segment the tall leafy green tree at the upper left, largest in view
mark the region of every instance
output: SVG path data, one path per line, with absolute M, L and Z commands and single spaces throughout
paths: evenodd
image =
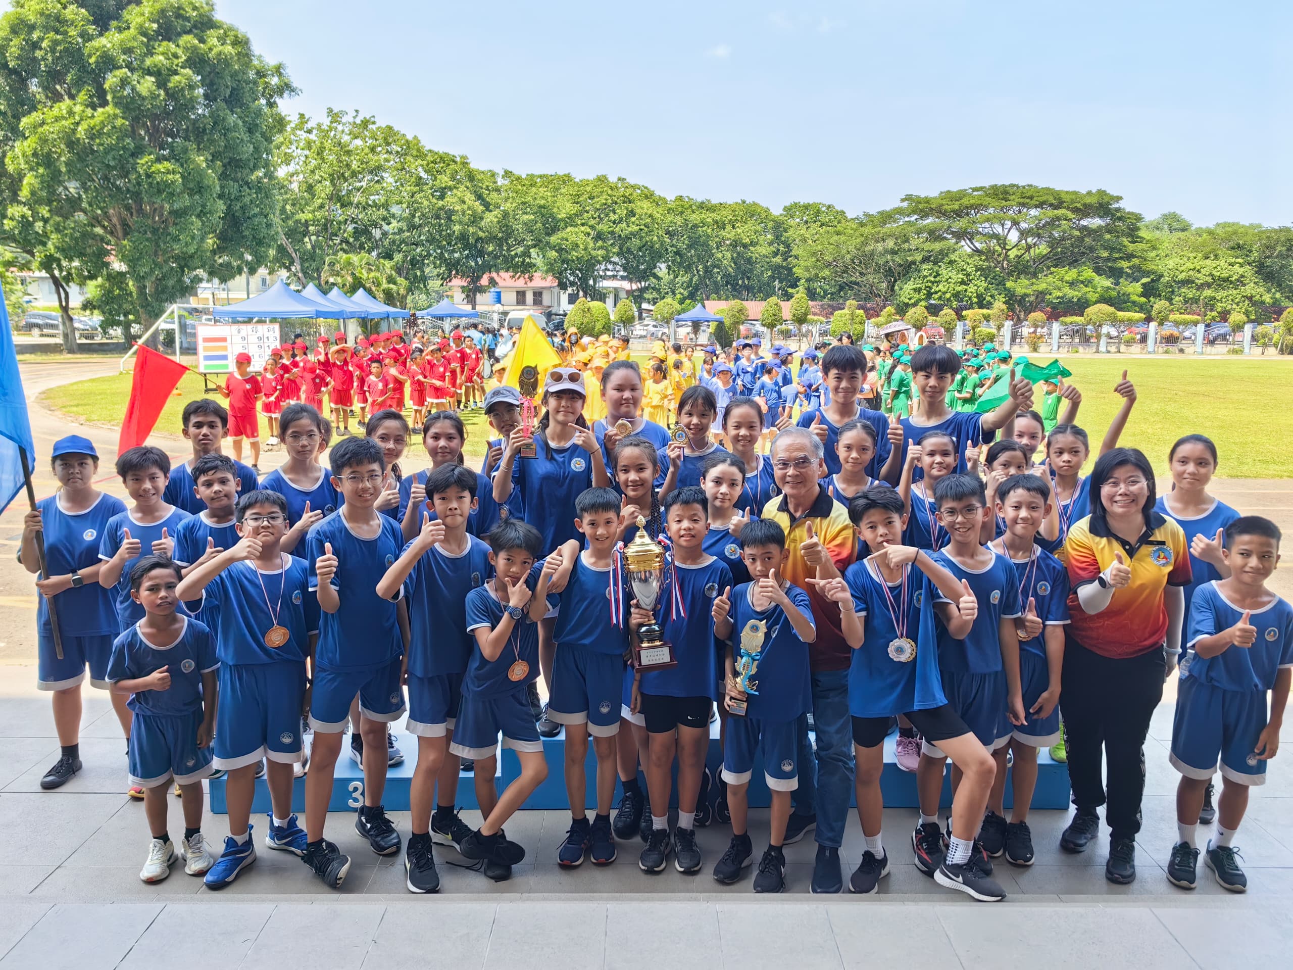
M 149 325 L 199 275 L 269 259 L 292 88 L 209 0 L 92 6 L 0 18 L 5 242 L 65 283 L 120 273 Z

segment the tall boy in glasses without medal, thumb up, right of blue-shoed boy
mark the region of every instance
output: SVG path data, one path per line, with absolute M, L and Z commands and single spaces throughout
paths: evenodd
M 345 503 L 305 537 L 309 587 L 318 595 L 319 638 L 310 696 L 314 728 L 310 772 L 305 776 L 305 864 L 337 889 L 350 867 L 348 856 L 323 839 L 332 797 L 332 773 L 350 702 L 359 697 L 359 735 L 370 751 L 387 745 L 387 724 L 405 713 L 403 679 L 407 613 L 402 591 L 384 599 L 376 581 L 403 548 L 400 523 L 372 506 L 381 494 L 385 460 L 372 438 L 344 438 L 331 451 L 332 485 Z M 381 807 L 387 759 L 365 758 L 363 804 L 356 830 L 378 855 L 400 851 L 400 834 Z

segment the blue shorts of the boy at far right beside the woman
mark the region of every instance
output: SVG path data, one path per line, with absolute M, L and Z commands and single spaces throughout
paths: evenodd
M 1199 678 L 1177 684 L 1171 719 L 1171 766 L 1187 779 L 1204 781 L 1217 772 L 1240 785 L 1266 784 L 1266 762 L 1256 754 L 1266 727 L 1266 691 L 1226 691 Z

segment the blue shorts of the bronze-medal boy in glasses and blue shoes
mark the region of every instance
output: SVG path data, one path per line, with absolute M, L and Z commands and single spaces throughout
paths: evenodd
M 221 663 L 215 766 L 233 771 L 261 758 L 301 759 L 304 661 Z

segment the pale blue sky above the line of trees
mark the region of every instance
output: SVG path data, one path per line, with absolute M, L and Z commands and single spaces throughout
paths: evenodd
M 5 4 L 6 5 L 6 4 Z M 473 164 L 828 202 L 992 182 L 1293 222 L 1287 0 L 216 0 L 290 113 Z

